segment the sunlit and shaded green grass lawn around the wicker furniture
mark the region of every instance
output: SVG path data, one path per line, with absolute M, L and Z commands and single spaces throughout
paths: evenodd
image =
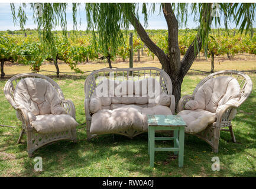
M 202 65 L 200 70 L 209 71 L 208 67 Z M 95 70 L 99 67 L 106 65 L 89 64 L 86 69 Z M 117 64 L 116 67 L 121 67 L 121 64 Z M 11 74 L 8 69 L 13 73 L 24 73 L 28 67 L 5 67 L 6 74 Z M 255 62 L 254 65 L 252 64 L 251 70 L 253 69 L 255 70 Z M 182 95 L 192 93 L 203 77 L 205 76 L 188 74 L 182 84 Z M 147 133 L 138 135 L 132 140 L 121 135 L 101 135 L 88 142 L 85 125 L 80 125 L 77 127 L 76 144 L 60 141 L 35 151 L 34 157 L 43 158 L 43 171 L 34 171 L 34 158 L 27 157 L 26 136 L 24 135 L 21 144 L 16 144 L 21 122 L 16 118 L 14 109 L 5 99 L 2 91 L 0 124 L 17 126 L 17 128 L 0 127 L 0 177 L 255 177 L 256 74 L 249 74 L 249 77 L 254 83 L 252 94 L 239 107 L 232 121 L 237 143 L 231 142 L 229 132 L 222 132 L 219 152 L 215 154 L 206 142 L 186 134 L 183 168 L 178 167 L 178 159 L 173 152 L 155 152 L 155 167 L 150 168 Z M 83 83 L 86 76 L 53 79 L 60 85 L 65 98 L 73 100 L 77 122 L 84 123 Z M 0 80 L 1 90 L 6 82 L 7 79 Z M 157 142 L 157 145 L 163 147 L 168 144 L 169 142 Z M 211 169 L 213 163 L 211 159 L 215 156 L 221 161 L 220 171 Z

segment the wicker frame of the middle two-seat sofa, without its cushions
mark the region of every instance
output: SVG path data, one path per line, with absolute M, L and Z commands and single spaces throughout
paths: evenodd
M 158 69 L 156 67 L 96 70 L 96 71 L 93 71 L 85 80 L 85 116 L 86 116 L 86 133 L 87 133 L 88 139 L 98 136 L 98 134 L 90 133 L 90 126 L 92 121 L 92 113 L 90 113 L 90 110 L 89 110 L 90 97 L 92 96 L 98 84 L 96 82 L 96 78 L 98 78 L 99 76 L 109 77 L 109 72 L 114 73 L 115 78 L 117 76 L 122 77 L 122 80 L 139 80 L 139 77 L 157 78 L 157 80 L 159 80 L 160 82 L 160 86 L 163 89 L 163 92 L 170 95 L 171 97 L 170 110 L 174 114 L 175 98 L 174 98 L 174 95 L 172 95 L 173 91 L 172 91 L 171 79 L 164 70 Z M 129 131 L 119 131 L 115 133 L 119 135 L 128 136 L 129 138 L 133 138 L 134 136 L 139 135 L 142 132 L 136 131 L 135 129 L 131 129 Z

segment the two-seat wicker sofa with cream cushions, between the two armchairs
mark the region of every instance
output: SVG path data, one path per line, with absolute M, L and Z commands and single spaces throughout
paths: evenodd
M 96 70 L 85 80 L 88 139 L 106 133 L 133 138 L 147 132 L 147 114 L 171 115 L 174 109 L 170 77 L 155 67 Z

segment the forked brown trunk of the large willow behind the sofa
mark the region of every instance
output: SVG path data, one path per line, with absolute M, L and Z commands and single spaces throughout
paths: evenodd
M 138 21 L 135 15 L 132 15 L 130 22 L 140 36 L 141 41 L 147 45 L 149 50 L 153 52 L 155 56 L 157 56 L 162 65 L 162 69 L 166 71 L 166 73 L 170 76 L 171 83 L 173 85 L 173 95 L 175 96 L 177 108 L 181 97 L 181 89 L 184 76 L 186 75 L 187 71 L 189 71 L 193 61 L 198 54 L 197 48 L 196 52 L 194 51 L 195 40 L 198 42 L 199 51 L 202 47 L 202 43 L 196 35 L 195 40 L 190 45 L 183 57 L 183 60 L 181 61 L 178 41 L 179 24 L 171 8 L 171 4 L 163 5 L 163 13 L 168 26 L 168 54 L 164 53 L 164 51 L 150 39 L 147 32 L 145 32 L 140 21 Z

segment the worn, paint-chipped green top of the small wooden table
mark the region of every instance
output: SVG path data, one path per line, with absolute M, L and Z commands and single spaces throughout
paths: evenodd
M 187 126 L 179 115 L 147 115 L 149 126 Z

